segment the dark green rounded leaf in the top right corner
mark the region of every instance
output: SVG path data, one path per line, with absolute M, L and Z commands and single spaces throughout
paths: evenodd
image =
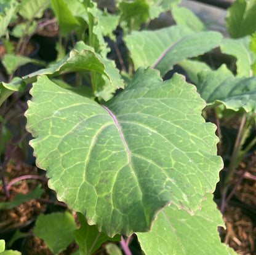
M 228 9 L 226 27 L 230 36 L 239 38 L 256 31 L 256 0 L 236 0 Z

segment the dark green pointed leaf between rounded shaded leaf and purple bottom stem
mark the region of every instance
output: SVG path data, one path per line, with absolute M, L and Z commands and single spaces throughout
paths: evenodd
M 79 251 L 81 254 L 92 254 L 94 251 L 97 251 L 97 249 L 100 248 L 100 245 L 102 245 L 102 243 L 107 240 L 121 240 L 120 235 L 116 235 L 113 238 L 110 238 L 105 235 L 105 233 L 98 232 L 97 226 L 90 226 L 81 213 L 77 214 L 81 227 L 78 230 L 74 230 L 74 237 L 79 245 Z

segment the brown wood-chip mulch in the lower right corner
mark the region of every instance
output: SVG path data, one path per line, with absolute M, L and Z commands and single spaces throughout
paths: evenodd
M 226 230 L 222 229 L 222 241 L 241 255 L 256 254 L 256 152 L 244 160 L 233 178 L 236 184 L 244 175 L 235 192 L 240 202 L 230 202 L 225 208 L 223 220 Z M 255 178 L 255 179 L 253 179 Z

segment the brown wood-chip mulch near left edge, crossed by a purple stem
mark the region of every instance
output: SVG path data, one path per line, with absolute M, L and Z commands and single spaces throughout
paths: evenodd
M 7 167 L 6 170 L 6 183 L 10 180 L 23 175 L 38 175 L 36 168 L 23 166 L 21 170 L 17 170 L 13 165 Z M 46 183 L 35 179 L 26 179 L 20 182 L 16 182 L 9 189 L 10 198 L 12 201 L 14 197 L 20 194 L 28 194 L 31 192 L 38 184 L 43 184 L 43 188 L 47 190 Z M 43 195 L 47 198 L 47 194 Z M 0 186 L 0 202 L 7 201 L 4 189 Z M 25 222 L 38 216 L 39 213 L 46 210 L 46 205 L 39 203 L 37 200 L 33 199 L 28 202 L 22 203 L 20 206 L 13 208 L 12 210 L 0 210 L 0 229 L 7 230 L 14 227 L 22 226 Z

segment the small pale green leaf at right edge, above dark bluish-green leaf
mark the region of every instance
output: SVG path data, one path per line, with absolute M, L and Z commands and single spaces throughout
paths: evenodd
M 233 55 L 237 58 L 237 76 L 250 77 L 252 70 L 250 66 L 255 61 L 255 54 L 250 50 L 250 37 L 242 37 L 240 39 L 225 38 L 220 44 L 223 53 Z

